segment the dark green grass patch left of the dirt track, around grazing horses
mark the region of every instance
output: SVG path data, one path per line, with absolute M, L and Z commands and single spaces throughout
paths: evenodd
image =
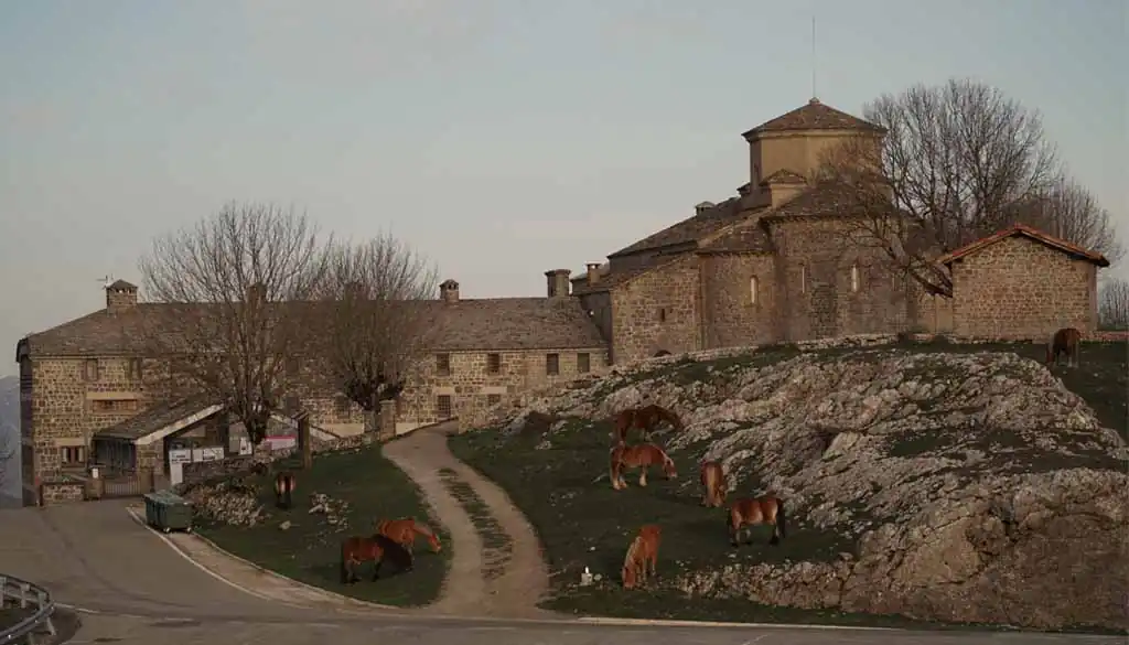
M 288 465 L 291 468 L 292 465 Z M 350 535 L 370 535 L 380 518 L 414 516 L 428 521 L 427 507 L 415 483 L 380 454 L 378 445 L 314 456 L 313 469 L 296 470 L 294 508 L 274 508 L 273 474 L 247 477 L 259 489 L 259 500 L 272 517 L 252 526 L 231 526 L 198 520 L 196 531 L 220 548 L 290 578 L 359 600 L 414 607 L 435 601 L 446 577 L 450 549 L 432 554 L 422 540 L 414 549 L 415 566 L 408 573 L 370 582 L 371 564 L 362 566 L 362 582 L 344 585 L 340 577 L 340 543 Z M 349 503 L 347 529 L 329 525 L 324 515 L 310 514 L 310 495 L 322 493 Z M 280 529 L 290 521 L 287 530 Z M 430 524 L 447 547 L 443 526 Z

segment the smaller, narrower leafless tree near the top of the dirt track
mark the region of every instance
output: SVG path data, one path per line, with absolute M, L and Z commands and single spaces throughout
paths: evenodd
M 367 412 L 366 429 L 435 340 L 436 282 L 435 267 L 391 233 L 330 254 L 322 355 L 334 385 Z

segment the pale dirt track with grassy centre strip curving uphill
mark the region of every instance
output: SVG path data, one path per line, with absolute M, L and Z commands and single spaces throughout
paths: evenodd
M 549 589 L 549 574 L 536 533 L 500 488 L 450 454 L 450 429 L 437 426 L 419 430 L 384 446 L 385 456 L 422 489 L 454 542 L 443 593 L 425 611 L 499 618 L 552 616 L 537 608 Z M 456 498 L 456 493 L 467 488 L 473 496 Z M 474 517 L 467 512 L 472 497 L 479 502 L 479 507 L 472 508 Z M 500 543 L 506 544 L 505 557 L 498 557 Z

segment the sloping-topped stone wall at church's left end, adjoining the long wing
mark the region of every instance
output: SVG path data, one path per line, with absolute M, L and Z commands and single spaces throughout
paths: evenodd
M 612 356 L 616 364 L 659 350 L 677 354 L 700 349 L 698 261 L 697 255 L 686 254 L 612 290 Z

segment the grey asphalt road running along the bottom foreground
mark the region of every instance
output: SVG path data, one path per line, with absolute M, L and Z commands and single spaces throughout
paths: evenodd
M 167 645 L 892 645 L 1124 643 L 1123 637 L 873 631 L 787 627 L 596 625 L 402 616 L 282 607 L 248 595 L 170 552 L 115 502 L 0 511 L 0 572 L 41 584 L 78 608 L 71 643 Z M 457 638 L 457 640 L 453 640 Z

